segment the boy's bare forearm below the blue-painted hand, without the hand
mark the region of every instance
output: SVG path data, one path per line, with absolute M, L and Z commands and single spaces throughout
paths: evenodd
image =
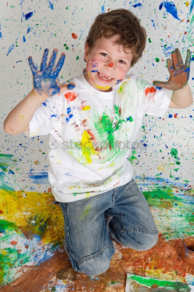
M 34 112 L 44 100 L 31 91 L 8 114 L 4 121 L 4 131 L 13 135 L 24 132 Z

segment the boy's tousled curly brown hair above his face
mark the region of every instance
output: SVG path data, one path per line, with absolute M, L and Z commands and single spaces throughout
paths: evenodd
M 115 44 L 122 45 L 125 53 L 126 49 L 131 50 L 132 67 L 142 57 L 147 35 L 140 20 L 127 9 L 119 8 L 96 16 L 86 39 L 89 51 L 101 36 L 109 39 L 115 35 L 120 36 Z

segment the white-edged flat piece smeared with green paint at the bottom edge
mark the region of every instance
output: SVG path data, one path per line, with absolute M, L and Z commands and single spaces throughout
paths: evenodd
M 144 287 L 144 289 L 140 287 Z M 153 288 L 157 288 L 157 287 L 160 287 L 160 288 L 166 287 L 166 289 L 169 289 L 169 290 L 172 289 L 172 291 L 174 289 L 175 291 L 180 291 L 180 292 L 194 292 L 193 285 L 188 285 L 188 284 L 176 282 L 176 281 L 159 280 L 159 279 L 141 277 L 134 274 L 127 274 L 127 284 L 126 284 L 125 292 L 143 292 L 146 290 L 145 287 L 147 288 L 147 290 L 150 290 L 150 292 L 152 292 Z M 165 292 L 165 288 L 163 289 L 162 290 Z

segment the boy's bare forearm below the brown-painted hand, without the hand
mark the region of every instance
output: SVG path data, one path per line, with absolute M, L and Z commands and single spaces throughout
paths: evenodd
M 173 91 L 170 108 L 186 108 L 193 102 L 193 96 L 188 84 L 183 88 Z

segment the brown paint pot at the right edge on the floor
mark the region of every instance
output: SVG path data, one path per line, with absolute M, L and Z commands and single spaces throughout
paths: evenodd
M 194 237 L 189 236 L 184 239 L 181 258 L 188 264 L 194 264 Z

